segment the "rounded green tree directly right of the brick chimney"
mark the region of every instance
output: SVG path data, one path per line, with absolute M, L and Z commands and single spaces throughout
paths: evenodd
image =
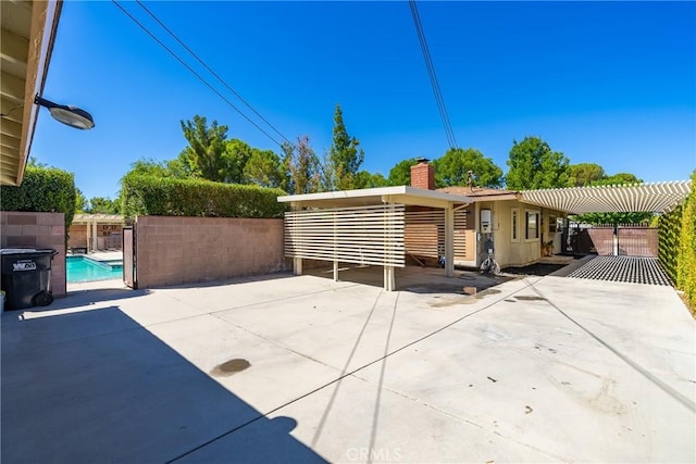
M 433 161 L 433 165 L 438 187 L 467 185 L 469 171 L 474 172 L 476 184 L 481 187 L 502 186 L 502 170 L 490 158 L 485 158 L 473 148 L 449 149 L 442 158 Z

